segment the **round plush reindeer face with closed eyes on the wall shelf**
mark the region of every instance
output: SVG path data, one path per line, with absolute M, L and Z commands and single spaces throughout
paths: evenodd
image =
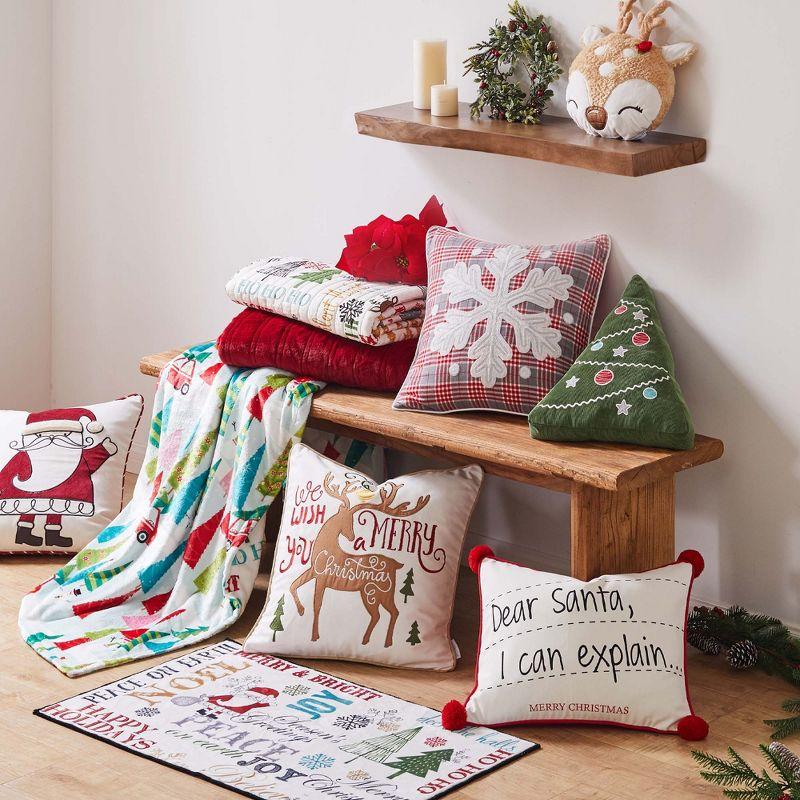
M 693 44 L 654 45 L 649 35 L 664 24 L 662 0 L 639 14 L 639 37 L 627 33 L 634 0 L 621 0 L 617 31 L 591 26 L 569 71 L 567 110 L 578 127 L 607 139 L 638 139 L 657 128 L 675 95 L 675 67 L 696 52 Z

